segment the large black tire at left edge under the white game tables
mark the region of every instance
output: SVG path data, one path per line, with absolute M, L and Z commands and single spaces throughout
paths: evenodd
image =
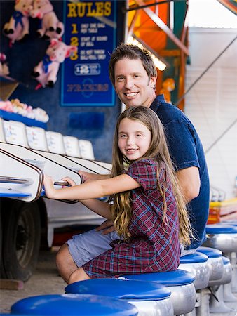
M 1 277 L 27 281 L 39 256 L 41 218 L 36 202 L 5 199 L 2 213 Z

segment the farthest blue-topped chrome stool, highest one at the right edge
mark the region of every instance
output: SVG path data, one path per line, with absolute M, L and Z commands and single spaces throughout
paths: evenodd
M 232 265 L 231 289 L 237 292 L 237 227 L 234 225 L 213 224 L 206 226 L 207 240 L 203 246 L 209 246 L 221 250 L 227 256 Z

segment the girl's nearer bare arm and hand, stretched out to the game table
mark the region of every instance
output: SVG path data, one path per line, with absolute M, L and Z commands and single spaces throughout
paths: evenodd
M 97 197 L 105 197 L 114 193 L 124 192 L 140 187 L 132 177 L 122 174 L 114 178 L 106 180 L 90 181 L 73 187 L 65 187 L 55 190 L 53 187 L 53 179 L 44 176 L 43 185 L 46 196 L 50 199 L 95 199 Z

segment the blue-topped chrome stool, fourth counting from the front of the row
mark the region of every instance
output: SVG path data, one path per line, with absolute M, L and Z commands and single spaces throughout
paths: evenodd
M 208 267 L 210 270 L 209 283 L 222 278 L 224 264 L 222 261 L 222 251 L 210 247 L 198 247 L 198 252 L 208 256 Z

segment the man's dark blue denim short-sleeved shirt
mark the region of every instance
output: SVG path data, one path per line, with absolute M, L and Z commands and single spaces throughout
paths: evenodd
M 150 108 L 156 112 L 165 127 L 170 156 L 176 171 L 191 166 L 196 166 L 199 170 L 200 192 L 187 206 L 195 239 L 191 240 L 191 245 L 186 249 L 195 249 L 205 241 L 205 225 L 209 213 L 210 187 L 203 145 L 191 121 L 177 107 L 165 103 L 163 95 L 157 96 Z

